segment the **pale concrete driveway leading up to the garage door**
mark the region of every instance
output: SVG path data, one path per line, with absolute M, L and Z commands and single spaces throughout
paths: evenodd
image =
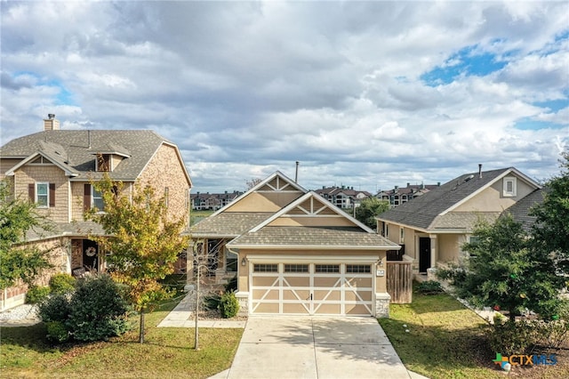
M 217 378 L 410 378 L 373 318 L 249 317 Z

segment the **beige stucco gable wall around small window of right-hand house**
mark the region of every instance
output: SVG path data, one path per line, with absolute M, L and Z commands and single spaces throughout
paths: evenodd
M 503 185 L 503 179 L 496 181 L 491 187 L 483 190 L 476 197 L 470 198 L 461 206 L 454 208 L 453 212 L 501 212 L 535 190 L 535 187 L 528 185 L 517 177 L 517 196 L 505 197 L 503 196 Z

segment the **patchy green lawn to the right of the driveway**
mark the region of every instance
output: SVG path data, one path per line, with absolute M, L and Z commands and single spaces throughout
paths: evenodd
M 413 293 L 413 303 L 392 304 L 390 319 L 380 319 L 407 369 L 429 378 L 569 377 L 569 351 L 557 351 L 556 366 L 513 367 L 493 364 L 496 352 L 486 340 L 484 319 L 447 294 Z M 409 332 L 406 332 L 408 330 Z M 565 346 L 569 348 L 569 346 Z

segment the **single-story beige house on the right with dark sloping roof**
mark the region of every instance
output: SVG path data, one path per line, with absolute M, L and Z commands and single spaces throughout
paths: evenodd
M 377 216 L 378 230 L 402 246 L 398 259 L 413 262 L 415 273 L 466 257 L 479 220 L 493 222 L 528 196 L 539 197 L 541 186 L 514 167 L 465 173 Z M 514 208 L 516 209 L 516 208 Z M 395 255 L 394 255 L 395 256 Z

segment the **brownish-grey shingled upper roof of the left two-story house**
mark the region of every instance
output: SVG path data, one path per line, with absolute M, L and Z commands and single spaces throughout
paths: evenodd
M 2 158 L 26 159 L 42 155 L 68 171 L 76 181 L 96 180 L 95 155 L 125 157 L 109 173 L 111 179 L 134 181 L 163 143 L 172 144 L 150 130 L 52 130 L 29 134 L 0 148 Z

